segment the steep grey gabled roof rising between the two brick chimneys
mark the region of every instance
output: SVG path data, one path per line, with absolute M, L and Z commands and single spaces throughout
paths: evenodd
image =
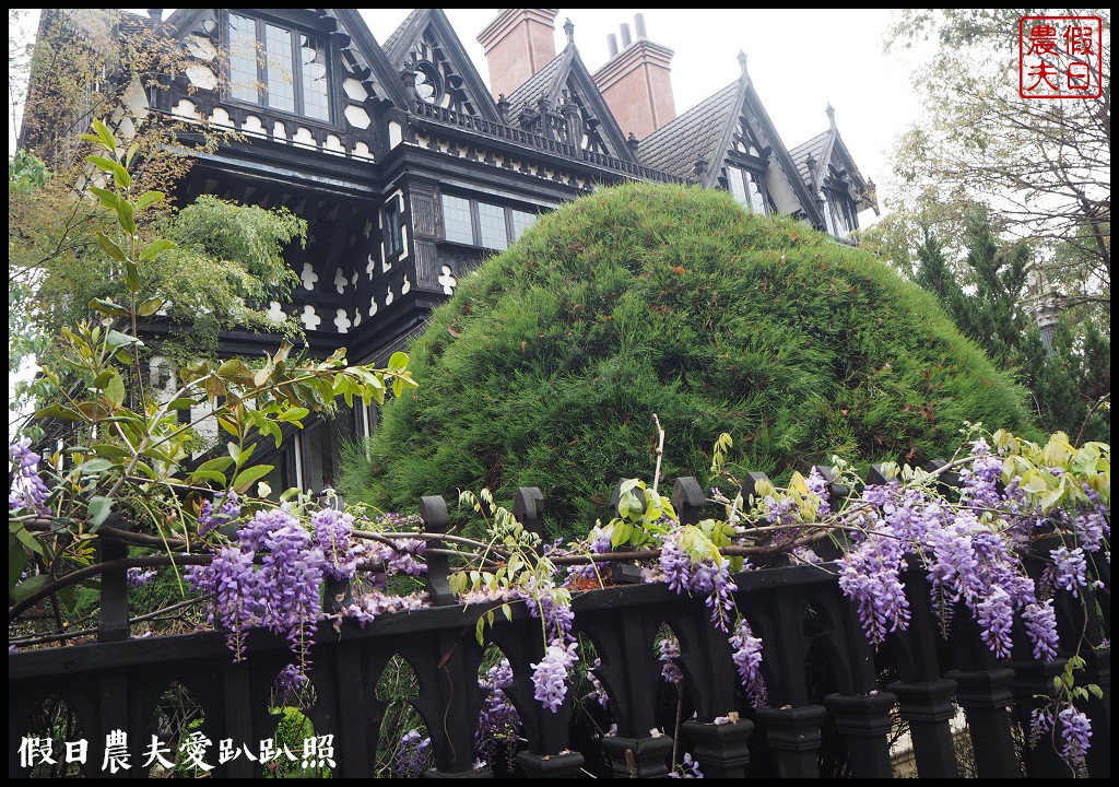
M 556 106 L 564 91 L 572 88 L 579 94 L 586 112 L 599 121 L 599 133 L 603 142 L 615 158 L 638 163 L 637 158 L 626 142 L 626 134 L 614 120 L 610 106 L 599 92 L 594 77 L 583 63 L 579 48 L 572 37 L 572 27 L 567 25 L 567 46 L 558 55 L 544 64 L 525 84 L 506 96 L 509 109 L 506 112 L 509 125 L 520 128 L 520 114 L 524 111 L 535 112 L 540 97 L 549 107 Z

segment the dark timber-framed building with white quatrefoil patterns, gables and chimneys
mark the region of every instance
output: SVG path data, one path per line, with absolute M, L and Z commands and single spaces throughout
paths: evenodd
M 673 50 L 648 38 L 641 15 L 591 73 L 571 21 L 556 29 L 558 10 L 499 11 L 478 35 L 488 85 L 440 9 L 414 10 L 383 43 L 356 9 L 122 13 L 121 30 L 160 28 L 189 62 L 163 90 L 126 91 L 117 130 L 156 115 L 238 131 L 198 157 L 180 204 L 213 194 L 307 219 L 307 249 L 289 254 L 301 283 L 271 311 L 299 319 L 312 354 L 345 346 L 351 363 L 383 363 L 486 255 L 602 186 L 721 188 L 840 242 L 876 209 L 830 106 L 822 133 L 787 148 L 740 54 L 739 78 L 677 115 Z M 274 344 L 242 331 L 223 346 L 258 355 Z M 358 404 L 300 432 L 272 487 L 329 486 L 332 447 L 374 419 Z

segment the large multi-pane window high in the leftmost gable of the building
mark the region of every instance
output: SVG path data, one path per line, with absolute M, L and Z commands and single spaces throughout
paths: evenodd
M 237 13 L 228 31 L 231 99 L 330 121 L 325 39 Z

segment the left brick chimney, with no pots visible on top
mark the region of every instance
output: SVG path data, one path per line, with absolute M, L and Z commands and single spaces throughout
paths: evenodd
M 510 95 L 556 56 L 558 8 L 504 8 L 478 34 L 490 72 L 490 93 Z

